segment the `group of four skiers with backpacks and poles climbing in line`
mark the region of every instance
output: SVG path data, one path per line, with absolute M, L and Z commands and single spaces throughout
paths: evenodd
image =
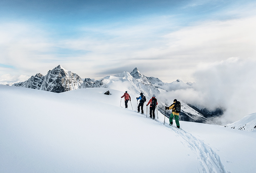
M 125 100 L 125 106 L 126 106 L 126 108 L 128 108 L 128 101 L 131 101 L 131 99 L 130 99 L 130 95 L 127 93 L 127 91 L 121 97 L 121 101 L 122 101 L 123 97 L 124 97 L 124 100 Z M 137 99 L 137 102 L 138 102 L 138 100 L 140 100 L 139 101 L 139 105 L 137 104 L 138 112 L 140 112 L 140 109 L 141 109 L 141 114 L 144 114 L 143 105 L 144 105 L 144 102 L 146 102 L 146 100 L 147 100 L 146 97 L 141 92 L 140 93 L 140 97 L 136 97 L 136 99 Z M 132 103 L 131 103 L 131 105 L 132 105 Z M 156 107 L 158 105 L 157 99 L 155 98 L 155 94 L 153 94 L 152 98 L 147 103 L 147 106 L 148 105 L 150 105 L 150 107 L 149 107 L 150 118 L 152 118 L 154 120 L 155 119 L 155 109 L 156 109 Z M 121 106 L 121 103 L 120 103 L 120 106 Z M 175 119 L 175 123 L 177 125 L 177 128 L 180 128 L 180 123 L 179 123 L 179 115 L 180 115 L 180 110 L 181 110 L 180 102 L 177 101 L 177 99 L 174 99 L 173 100 L 173 104 L 171 104 L 169 107 L 165 106 L 165 111 L 167 109 L 168 110 L 172 109 L 172 114 L 170 115 L 170 118 L 169 118 L 169 122 L 170 122 L 169 125 L 173 125 L 173 118 L 174 118 Z

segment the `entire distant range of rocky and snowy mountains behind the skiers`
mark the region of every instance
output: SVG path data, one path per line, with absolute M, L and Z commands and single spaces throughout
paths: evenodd
M 139 96 L 140 92 L 144 93 L 147 97 L 147 101 L 153 94 L 161 97 L 161 101 L 158 100 L 158 110 L 165 114 L 165 106 L 168 102 L 168 98 L 164 97 L 168 91 L 176 89 L 186 89 L 193 87 L 193 83 L 184 83 L 177 79 L 172 83 L 162 82 L 156 77 L 146 77 L 139 72 L 137 68 L 134 68 L 132 72 L 122 72 L 114 76 L 107 76 L 99 80 L 92 80 L 90 78 L 81 79 L 77 74 L 64 69 L 61 65 L 49 70 L 46 76 L 38 73 L 35 76 L 31 76 L 25 82 L 18 82 L 13 86 L 27 87 L 32 89 L 39 89 L 50 92 L 66 92 L 76 89 L 92 88 L 92 87 L 104 87 L 116 89 L 119 91 L 128 91 L 129 93 Z M 181 101 L 182 102 L 182 101 Z M 170 112 L 166 112 L 167 116 Z M 213 116 L 220 116 L 223 114 L 221 109 L 215 111 L 208 111 L 205 109 L 198 109 L 197 107 L 182 102 L 181 120 L 191 122 L 207 122 L 207 119 Z

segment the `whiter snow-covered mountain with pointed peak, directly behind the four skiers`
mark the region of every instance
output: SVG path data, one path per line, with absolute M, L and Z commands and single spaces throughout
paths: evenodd
M 81 88 L 88 88 L 88 87 L 105 87 L 105 88 L 111 88 L 116 89 L 119 91 L 126 91 L 128 90 L 128 93 L 132 93 L 134 95 L 138 95 L 140 92 L 144 93 L 144 96 L 146 96 L 147 101 L 152 97 L 153 94 L 156 96 L 160 96 L 162 99 L 158 100 L 158 110 L 165 114 L 167 117 L 170 117 L 171 112 L 167 111 L 165 112 L 165 106 L 168 105 L 168 98 L 163 97 L 165 96 L 165 93 L 167 93 L 167 89 L 169 91 L 180 88 L 189 88 L 192 84 L 185 84 L 184 82 L 177 79 L 177 81 L 172 83 L 164 83 L 160 79 L 155 77 L 146 77 L 143 74 L 139 72 L 139 69 L 135 68 L 132 72 L 122 72 L 119 74 L 116 74 L 114 76 L 107 76 L 103 79 L 93 81 L 89 78 L 86 78 L 84 80 L 83 85 Z M 138 97 L 137 96 L 137 97 Z M 191 122 L 206 122 L 207 118 L 204 117 L 203 114 L 199 113 L 198 109 L 191 107 L 190 105 L 186 104 L 185 102 L 182 102 L 182 112 L 180 119 L 185 121 L 191 121 Z

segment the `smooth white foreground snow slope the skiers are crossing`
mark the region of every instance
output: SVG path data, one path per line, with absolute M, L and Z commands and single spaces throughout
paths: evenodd
M 111 95 L 103 94 L 107 90 Z M 177 129 L 167 118 L 164 125 L 160 112 L 156 120 L 149 112 L 147 117 L 137 113 L 134 95 L 125 109 L 123 94 L 106 88 L 58 94 L 0 85 L 0 172 L 256 170 L 256 133 L 192 122 L 180 122 Z

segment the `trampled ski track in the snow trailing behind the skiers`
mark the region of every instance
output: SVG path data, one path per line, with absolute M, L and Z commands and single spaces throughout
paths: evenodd
M 163 122 L 160 122 L 157 119 L 155 119 L 155 121 L 164 125 Z M 168 123 L 164 125 L 164 127 L 177 133 L 178 136 L 182 137 L 187 142 L 187 147 L 189 147 L 193 152 L 197 153 L 198 173 L 231 173 L 230 171 L 227 172 L 225 170 L 224 165 L 221 163 L 220 157 L 203 141 L 194 137 L 189 132 L 170 126 Z M 186 144 L 183 143 L 183 145 Z

